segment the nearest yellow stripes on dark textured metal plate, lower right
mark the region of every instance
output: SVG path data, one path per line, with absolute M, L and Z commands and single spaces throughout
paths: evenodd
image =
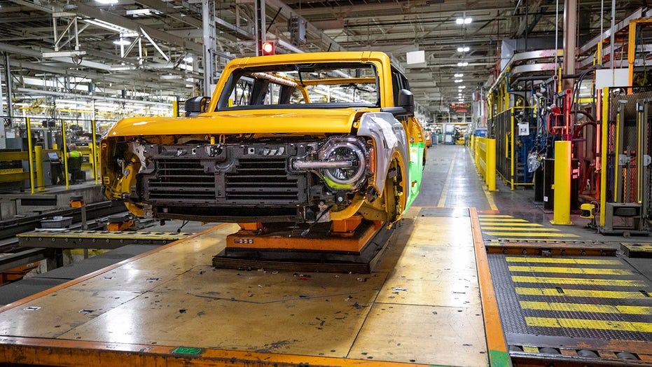
M 649 284 L 618 258 L 505 256 L 504 261 L 527 326 L 652 333 L 652 322 L 641 322 L 652 317 Z M 583 316 L 569 317 L 573 312 Z

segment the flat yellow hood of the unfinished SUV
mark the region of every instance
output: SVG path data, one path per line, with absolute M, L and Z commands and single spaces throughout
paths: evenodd
M 176 134 L 349 134 L 360 109 L 261 109 L 189 118 L 125 118 L 110 137 Z

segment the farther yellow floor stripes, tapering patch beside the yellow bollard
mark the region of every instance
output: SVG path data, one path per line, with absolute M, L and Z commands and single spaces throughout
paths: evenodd
M 478 217 L 483 234 L 501 237 L 502 240 L 570 240 L 579 237 L 562 233 L 557 228 L 545 227 L 540 223 L 530 223 L 525 219 L 506 214 L 480 214 Z

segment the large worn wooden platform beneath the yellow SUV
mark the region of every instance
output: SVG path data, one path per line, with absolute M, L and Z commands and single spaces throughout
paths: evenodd
M 235 225 L 167 244 L 2 307 L 0 363 L 487 366 L 471 220 L 410 210 L 368 275 L 216 269 Z

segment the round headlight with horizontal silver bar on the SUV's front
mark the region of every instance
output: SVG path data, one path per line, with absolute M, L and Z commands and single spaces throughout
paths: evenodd
M 369 155 L 366 144 L 355 137 L 332 137 L 314 154 L 293 158 L 291 167 L 318 174 L 335 190 L 352 190 L 370 172 Z

